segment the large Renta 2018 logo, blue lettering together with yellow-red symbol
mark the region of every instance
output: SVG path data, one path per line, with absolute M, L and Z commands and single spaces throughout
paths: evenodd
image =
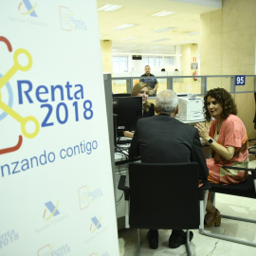
M 12 52 L 12 46 L 9 40 L 6 37 L 0 36 L 0 44 L 4 43 L 7 46 L 8 51 Z M 18 111 L 12 108 L 13 101 L 13 93 L 11 89 L 11 84 L 9 80 L 16 74 L 16 72 L 27 72 L 32 66 L 32 57 L 27 49 L 18 48 L 13 53 L 13 64 L 9 67 L 9 70 L 6 74 L 0 74 L 0 110 L 3 111 L 0 114 L 0 121 L 3 121 L 7 116 L 12 119 L 15 119 L 21 125 L 21 132 L 17 140 L 18 142 L 15 145 L 10 145 L 9 147 L 1 147 L 0 143 L 0 155 L 11 153 L 17 151 L 22 143 L 23 136 L 27 138 L 36 137 L 39 133 L 40 126 L 42 128 L 48 126 L 54 126 L 56 123 L 65 124 L 68 119 L 72 119 L 70 113 L 73 112 L 75 117 L 75 121 L 80 121 L 80 119 L 89 120 L 93 118 L 93 109 L 92 109 L 92 101 L 83 100 L 83 86 L 82 84 L 71 84 L 69 81 L 65 83 L 65 85 L 61 85 L 61 83 L 56 85 L 50 85 L 50 89 L 46 85 L 33 85 L 29 80 L 18 80 L 17 81 L 17 89 L 18 89 L 18 104 L 32 104 L 32 103 L 40 103 L 41 109 L 46 109 L 46 117 L 40 124 L 38 119 L 33 116 L 22 117 Z M 27 61 L 27 62 L 26 62 Z M 26 62 L 26 64 L 24 64 Z M 3 98 L 3 90 L 6 89 L 9 101 Z M 33 90 L 35 88 L 35 91 Z M 57 104 L 56 109 L 54 109 L 54 105 L 50 104 L 56 103 L 58 99 L 58 92 L 61 91 L 61 99 Z M 35 95 L 33 94 L 35 93 Z M 34 98 L 35 97 L 35 98 Z M 83 101 L 82 101 L 83 100 Z M 68 102 L 67 102 L 68 101 Z M 72 105 L 70 105 L 69 101 L 72 101 Z M 69 106 L 67 105 L 69 103 Z M 82 112 L 82 113 L 81 113 Z M 54 119 L 56 119 L 54 121 Z M 92 148 L 96 149 L 98 147 L 97 141 L 93 141 L 91 143 L 84 141 L 80 146 L 78 146 L 79 153 L 91 154 Z M 90 147 L 89 147 L 90 146 Z M 71 149 L 66 153 L 67 156 L 72 156 L 76 154 L 76 152 Z M 71 155 L 70 155 L 71 154 Z M 65 153 L 62 151 L 61 157 L 65 158 Z

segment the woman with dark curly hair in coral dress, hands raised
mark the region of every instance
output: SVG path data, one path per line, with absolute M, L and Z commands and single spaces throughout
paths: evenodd
M 208 141 L 212 158 L 207 159 L 209 181 L 218 184 L 236 184 L 247 179 L 247 172 L 223 169 L 222 166 L 248 166 L 247 129 L 237 115 L 237 107 L 231 95 L 224 88 L 215 88 L 204 97 L 205 117 L 211 122 L 210 129 L 201 123 L 195 127 L 199 136 Z M 205 227 L 221 224 L 220 211 L 210 199 L 207 204 Z

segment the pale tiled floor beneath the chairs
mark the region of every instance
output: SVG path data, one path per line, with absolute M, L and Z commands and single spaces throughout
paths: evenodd
M 254 156 L 253 156 L 254 157 Z M 251 168 L 256 167 L 256 160 L 250 158 Z M 236 215 L 251 219 L 256 219 L 256 200 L 238 196 L 229 196 L 225 194 L 216 195 L 216 207 L 228 215 Z M 256 243 L 256 224 L 240 221 L 228 220 L 222 218 L 221 227 L 211 227 L 210 231 L 220 234 L 229 234 L 240 237 L 248 242 Z M 159 247 L 155 250 L 148 247 L 146 240 L 147 230 L 141 232 L 141 256 L 165 256 L 165 255 L 187 255 L 186 247 L 181 246 L 175 249 L 168 247 L 168 239 L 171 230 L 159 230 Z M 249 247 L 241 244 L 231 243 L 229 241 L 211 238 L 199 234 L 198 230 L 193 230 L 193 239 L 191 242 L 192 255 L 197 256 L 255 256 L 256 247 Z M 120 256 L 133 256 L 137 252 L 137 229 L 119 230 L 119 254 Z

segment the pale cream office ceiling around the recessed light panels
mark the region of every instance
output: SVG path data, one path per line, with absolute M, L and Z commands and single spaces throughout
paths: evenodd
M 97 0 L 97 8 L 106 4 L 119 5 L 115 11 L 98 11 L 101 40 L 112 40 L 113 53 L 172 54 L 174 46 L 197 44 L 200 34 L 200 14 L 221 9 L 222 0 Z M 166 17 L 152 14 L 174 11 Z M 123 24 L 136 24 L 122 30 L 113 29 Z M 173 30 L 154 32 L 165 27 Z M 122 40 L 137 37 L 131 40 Z M 155 40 L 163 40 L 154 42 Z

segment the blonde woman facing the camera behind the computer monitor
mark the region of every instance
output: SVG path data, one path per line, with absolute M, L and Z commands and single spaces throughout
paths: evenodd
M 132 96 L 142 97 L 142 118 L 148 118 L 155 116 L 155 105 L 148 100 L 149 86 L 145 82 L 137 82 L 132 90 Z M 134 137 L 134 132 L 124 131 L 124 137 Z

